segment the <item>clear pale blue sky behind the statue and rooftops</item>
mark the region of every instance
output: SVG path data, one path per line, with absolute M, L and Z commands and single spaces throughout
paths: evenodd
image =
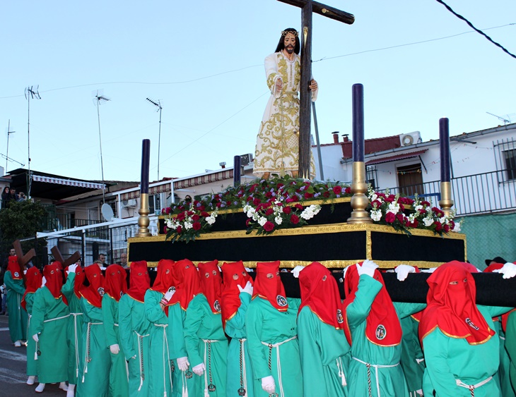
M 437 1 L 325 3 L 356 22 L 314 16 L 322 143 L 334 130 L 351 133 L 354 83 L 364 85 L 365 138 L 419 130 L 437 139 L 440 117 L 450 118 L 452 135 L 503 123 L 486 111 L 516 121 L 516 59 Z M 514 0 L 447 4 L 516 54 Z M 4 1 L 0 14 L 0 153 L 11 119 L 8 156 L 27 166 L 23 91 L 39 85 L 42 99 L 30 102 L 31 169 L 100 179 L 92 92 L 103 90 L 112 99 L 100 106 L 104 176 L 123 181 L 139 180 L 143 138 L 157 177 L 159 114 L 146 97 L 163 104 L 161 178 L 254 152 L 268 99 L 264 57 L 281 30 L 300 28 L 299 8 L 276 0 Z

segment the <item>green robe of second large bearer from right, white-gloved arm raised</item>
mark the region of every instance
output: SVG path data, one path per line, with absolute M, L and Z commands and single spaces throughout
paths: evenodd
M 396 346 L 378 346 L 368 340 L 365 335 L 366 319 L 370 307 L 380 292 L 382 283 L 370 276 L 362 275 L 358 281 L 358 291 L 355 300 L 348 305 L 346 316 L 351 331 L 351 360 L 348 368 L 348 396 L 368 396 L 368 367 L 372 384 L 371 396 L 409 396 L 403 369 L 399 365 L 401 359 L 401 343 Z M 410 303 L 394 303 L 398 317 L 403 318 L 419 310 L 426 305 Z M 360 360 L 360 361 L 358 361 Z M 387 365 L 388 367 L 373 367 L 373 365 Z

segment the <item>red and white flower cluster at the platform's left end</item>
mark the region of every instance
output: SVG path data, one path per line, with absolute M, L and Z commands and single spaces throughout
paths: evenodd
M 166 240 L 170 238 L 172 243 L 183 240 L 188 243 L 206 233 L 215 223 L 218 210 L 215 209 L 211 214 L 205 211 L 204 205 L 199 201 L 190 202 L 188 207 L 178 206 L 179 212 L 171 214 L 171 209 L 164 209 L 165 228 L 167 231 Z

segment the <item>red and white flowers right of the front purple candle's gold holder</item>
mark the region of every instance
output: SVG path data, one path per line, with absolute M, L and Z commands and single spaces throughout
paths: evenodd
M 370 201 L 370 216 L 377 224 L 392 226 L 397 231 L 411 235 L 409 229 L 421 228 L 431 230 L 442 236 L 450 231 L 460 231 L 460 224 L 455 223 L 452 216 L 445 216 L 437 207 L 430 202 L 420 200 L 415 195 L 414 200 L 399 195 L 377 193 L 372 188 L 368 190 Z M 411 210 L 406 211 L 410 206 Z M 406 212 L 409 212 L 407 215 Z

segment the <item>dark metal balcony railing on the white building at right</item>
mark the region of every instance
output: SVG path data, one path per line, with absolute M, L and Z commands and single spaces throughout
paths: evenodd
M 516 209 L 516 180 L 507 170 L 452 178 L 452 200 L 457 216 L 486 214 Z M 385 192 L 385 190 L 379 190 Z M 433 205 L 440 200 L 440 181 L 389 188 L 389 193 L 425 197 Z

